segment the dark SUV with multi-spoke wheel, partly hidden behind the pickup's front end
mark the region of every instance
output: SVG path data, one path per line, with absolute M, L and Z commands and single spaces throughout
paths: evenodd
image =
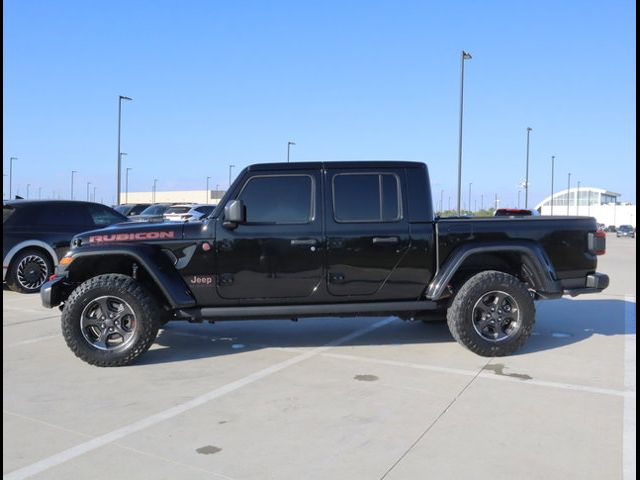
M 16 292 L 37 292 L 74 235 L 126 221 L 99 203 L 7 201 L 2 209 L 2 279 Z

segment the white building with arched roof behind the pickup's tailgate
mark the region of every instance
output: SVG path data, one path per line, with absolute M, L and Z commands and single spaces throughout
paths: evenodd
M 595 217 L 605 226 L 636 226 L 636 206 L 618 201 L 619 193 L 603 188 L 580 187 L 561 190 L 536 205 L 541 215 Z

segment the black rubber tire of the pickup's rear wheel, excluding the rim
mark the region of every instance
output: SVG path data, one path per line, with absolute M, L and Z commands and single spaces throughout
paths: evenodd
M 473 325 L 476 303 L 488 292 L 502 291 L 513 297 L 520 311 L 519 327 L 509 338 L 495 342 L 485 339 Z M 513 275 L 488 270 L 469 278 L 458 290 L 447 312 L 449 330 L 458 343 L 483 357 L 511 355 L 522 347 L 535 323 L 533 298 L 525 285 Z

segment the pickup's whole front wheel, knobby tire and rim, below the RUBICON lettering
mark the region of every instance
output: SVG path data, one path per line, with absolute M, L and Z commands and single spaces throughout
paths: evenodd
M 158 302 L 126 275 L 93 277 L 62 311 L 62 334 L 75 355 L 99 367 L 132 363 L 151 346 L 163 318 Z

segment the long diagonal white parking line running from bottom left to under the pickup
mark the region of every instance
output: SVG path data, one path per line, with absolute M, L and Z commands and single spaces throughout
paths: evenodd
M 195 397 L 187 402 L 184 402 L 180 405 L 176 405 L 175 407 L 169 408 L 162 412 L 158 412 L 155 415 L 151 415 L 150 417 L 143 418 L 138 420 L 137 422 L 133 422 L 125 427 L 119 428 L 112 432 L 106 433 L 104 435 L 100 435 L 99 437 L 95 437 L 85 443 L 81 443 L 80 445 L 76 445 L 75 447 L 71 447 L 67 450 L 64 450 L 60 453 L 52 455 L 48 458 L 40 460 L 39 462 L 33 463 L 31 465 L 27 465 L 26 467 L 22 467 L 18 470 L 14 470 L 13 472 L 9 472 L 6 475 L 3 475 L 3 479 L 6 480 L 15 480 L 15 479 L 23 479 L 29 478 L 33 475 L 37 475 L 38 473 L 44 472 L 52 467 L 60 465 L 62 463 L 68 462 L 69 460 L 73 460 L 80 455 L 96 450 L 104 445 L 115 442 L 127 435 L 131 435 L 132 433 L 139 432 L 148 427 L 152 427 L 160 422 L 168 420 L 170 418 L 181 415 L 182 413 L 188 412 L 189 410 L 193 410 L 196 407 L 204 405 L 211 400 L 215 400 L 216 398 L 222 397 L 228 393 L 239 390 L 242 387 L 246 387 L 258 380 L 261 380 L 265 377 L 273 375 L 274 373 L 278 373 L 285 368 L 296 365 L 300 362 L 304 362 L 309 358 L 315 357 L 324 353 L 326 350 L 329 350 L 332 347 L 336 347 L 338 345 L 342 345 L 347 343 L 355 338 L 361 337 L 370 333 L 378 328 L 381 328 L 391 322 L 393 322 L 395 318 L 385 318 L 384 320 L 380 320 L 372 325 L 368 325 L 361 329 L 358 329 L 348 335 L 340 337 L 336 340 L 333 340 L 322 347 L 314 348 L 308 352 L 301 353 L 293 358 L 289 358 L 283 362 L 276 363 L 270 367 L 264 368 L 258 372 L 252 373 L 251 375 L 247 375 L 244 378 L 236 380 L 234 382 L 223 385 L 215 390 L 212 390 L 208 393 L 200 395 L 199 397 Z

